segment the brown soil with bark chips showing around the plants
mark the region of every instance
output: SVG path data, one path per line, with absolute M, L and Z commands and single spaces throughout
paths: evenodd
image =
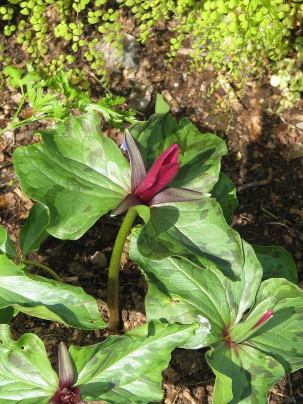
M 126 25 L 132 32 L 133 23 Z M 171 112 L 177 119 L 187 116 L 201 132 L 217 132 L 224 138 L 229 154 L 222 161 L 223 171 L 228 174 L 238 188 L 239 208 L 232 225 L 250 243 L 281 245 L 296 262 L 299 284 L 303 282 L 303 170 L 302 158 L 287 160 L 293 145 L 302 142 L 303 132 L 295 127 L 302 118 L 297 103 L 292 110 L 279 116 L 268 112 L 277 108 L 277 94 L 265 77 L 256 83 L 252 77 L 245 96 L 236 100 L 228 113 L 214 106 L 228 97 L 219 88 L 209 98 L 205 96 L 209 83 L 214 80 L 211 70 L 187 75 L 189 70 L 186 56 L 179 55 L 167 66 L 165 55 L 168 51 L 168 30 L 159 25 L 155 35 L 147 45 L 141 46 L 139 71 L 115 69 L 112 71 L 114 93 L 125 95 L 129 105 L 134 104 L 133 81 L 140 86 L 141 95 L 151 93 L 150 103 L 144 111 L 138 111 L 138 118 L 145 120 L 153 113 L 155 91 L 162 92 L 169 101 Z M 14 38 L 7 41 L 7 49 L 12 49 L 13 61 L 24 66 L 24 59 L 13 52 Z M 61 53 L 56 46 L 54 52 Z M 20 56 L 21 55 L 21 56 Z M 23 55 L 24 56 L 24 55 Z M 54 57 L 54 55 L 52 55 Z M 91 79 L 93 95 L 103 96 L 103 90 L 95 79 Z M 147 90 L 146 90 L 147 89 Z M 146 94 L 147 91 L 147 94 Z M 0 101 L 0 124 L 7 125 L 17 108 L 19 95 L 6 85 Z M 232 118 L 230 119 L 230 113 Z M 303 119 L 301 119 L 303 121 Z M 35 123 L 15 130 L 12 139 L 0 138 L 0 215 L 1 224 L 17 243 L 20 227 L 32 205 L 20 191 L 18 179 L 12 165 L 12 153 L 20 144 L 38 141 L 32 134 L 45 123 Z M 226 130 L 228 128 L 228 130 Z M 122 141 L 122 132 L 103 124 L 104 132 Z M 13 186 L 8 186 L 13 180 Z M 106 319 L 107 267 L 100 269 L 91 264 L 89 257 L 96 251 L 104 252 L 109 262 L 113 243 L 121 219 L 102 217 L 77 241 L 61 241 L 49 237 L 38 252 L 28 259 L 42 262 L 56 270 L 66 282 L 81 285 L 93 295 Z M 127 246 L 126 246 L 127 247 Z M 144 294 L 147 284 L 138 268 L 128 262 L 127 248 L 123 256 L 124 268 L 120 276 L 122 332 L 145 322 Z M 45 275 L 36 269 L 33 272 Z M 62 324 L 41 321 L 20 313 L 12 326 L 15 338 L 24 332 L 34 332 L 47 347 L 49 356 L 56 366 L 57 346 L 60 341 L 77 345 L 99 342 L 109 335 L 108 330 L 86 332 L 66 327 Z M 176 349 L 169 368 L 164 372 L 165 404 L 211 403 L 214 375 L 206 364 L 203 349 L 190 351 Z M 297 371 L 270 390 L 269 403 L 303 403 L 302 372 Z

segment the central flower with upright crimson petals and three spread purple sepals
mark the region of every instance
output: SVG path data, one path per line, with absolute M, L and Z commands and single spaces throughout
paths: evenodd
M 179 147 L 176 143 L 163 151 L 146 174 L 140 151 L 127 130 L 125 142 L 130 160 L 131 193 L 112 212 L 112 216 L 120 215 L 136 205 L 150 206 L 165 202 L 189 201 L 209 195 L 183 188 L 165 189 L 177 175 L 181 164 L 178 162 Z

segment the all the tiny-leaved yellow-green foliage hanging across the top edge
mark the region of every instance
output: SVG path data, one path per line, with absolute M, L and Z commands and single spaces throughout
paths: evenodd
M 214 66 L 218 81 L 211 84 L 209 94 L 222 80 L 235 83 L 241 94 L 251 69 L 261 74 L 268 58 L 275 66 L 301 52 L 302 42 L 292 31 L 302 22 L 302 10 L 301 0 L 8 0 L 0 15 L 4 34 L 16 31 L 18 42 L 36 63 L 42 61 L 57 72 L 84 57 L 86 70 L 94 70 L 101 81 L 107 80 L 107 69 L 104 47 L 98 42 L 111 42 L 117 56 L 121 54 L 122 22 L 129 12 L 137 20 L 142 43 L 160 19 L 174 20 L 169 58 L 186 46 L 192 68 Z M 52 35 L 67 41 L 71 53 L 46 62 L 52 42 L 47 38 Z M 189 45 L 184 43 L 188 37 Z M 295 69 L 289 74 L 295 75 Z

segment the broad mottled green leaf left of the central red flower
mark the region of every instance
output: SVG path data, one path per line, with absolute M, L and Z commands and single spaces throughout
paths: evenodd
M 77 239 L 130 192 L 130 167 L 96 114 L 70 117 L 41 133 L 41 144 L 17 147 L 23 192 L 49 209 L 47 232 Z

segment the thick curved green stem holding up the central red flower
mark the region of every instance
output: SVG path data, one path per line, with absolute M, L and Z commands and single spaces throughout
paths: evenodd
M 112 252 L 109 274 L 108 274 L 108 309 L 109 309 L 109 328 L 117 330 L 119 328 L 119 270 L 123 248 L 126 237 L 132 227 L 137 213 L 129 209 L 120 227 L 115 245 Z

